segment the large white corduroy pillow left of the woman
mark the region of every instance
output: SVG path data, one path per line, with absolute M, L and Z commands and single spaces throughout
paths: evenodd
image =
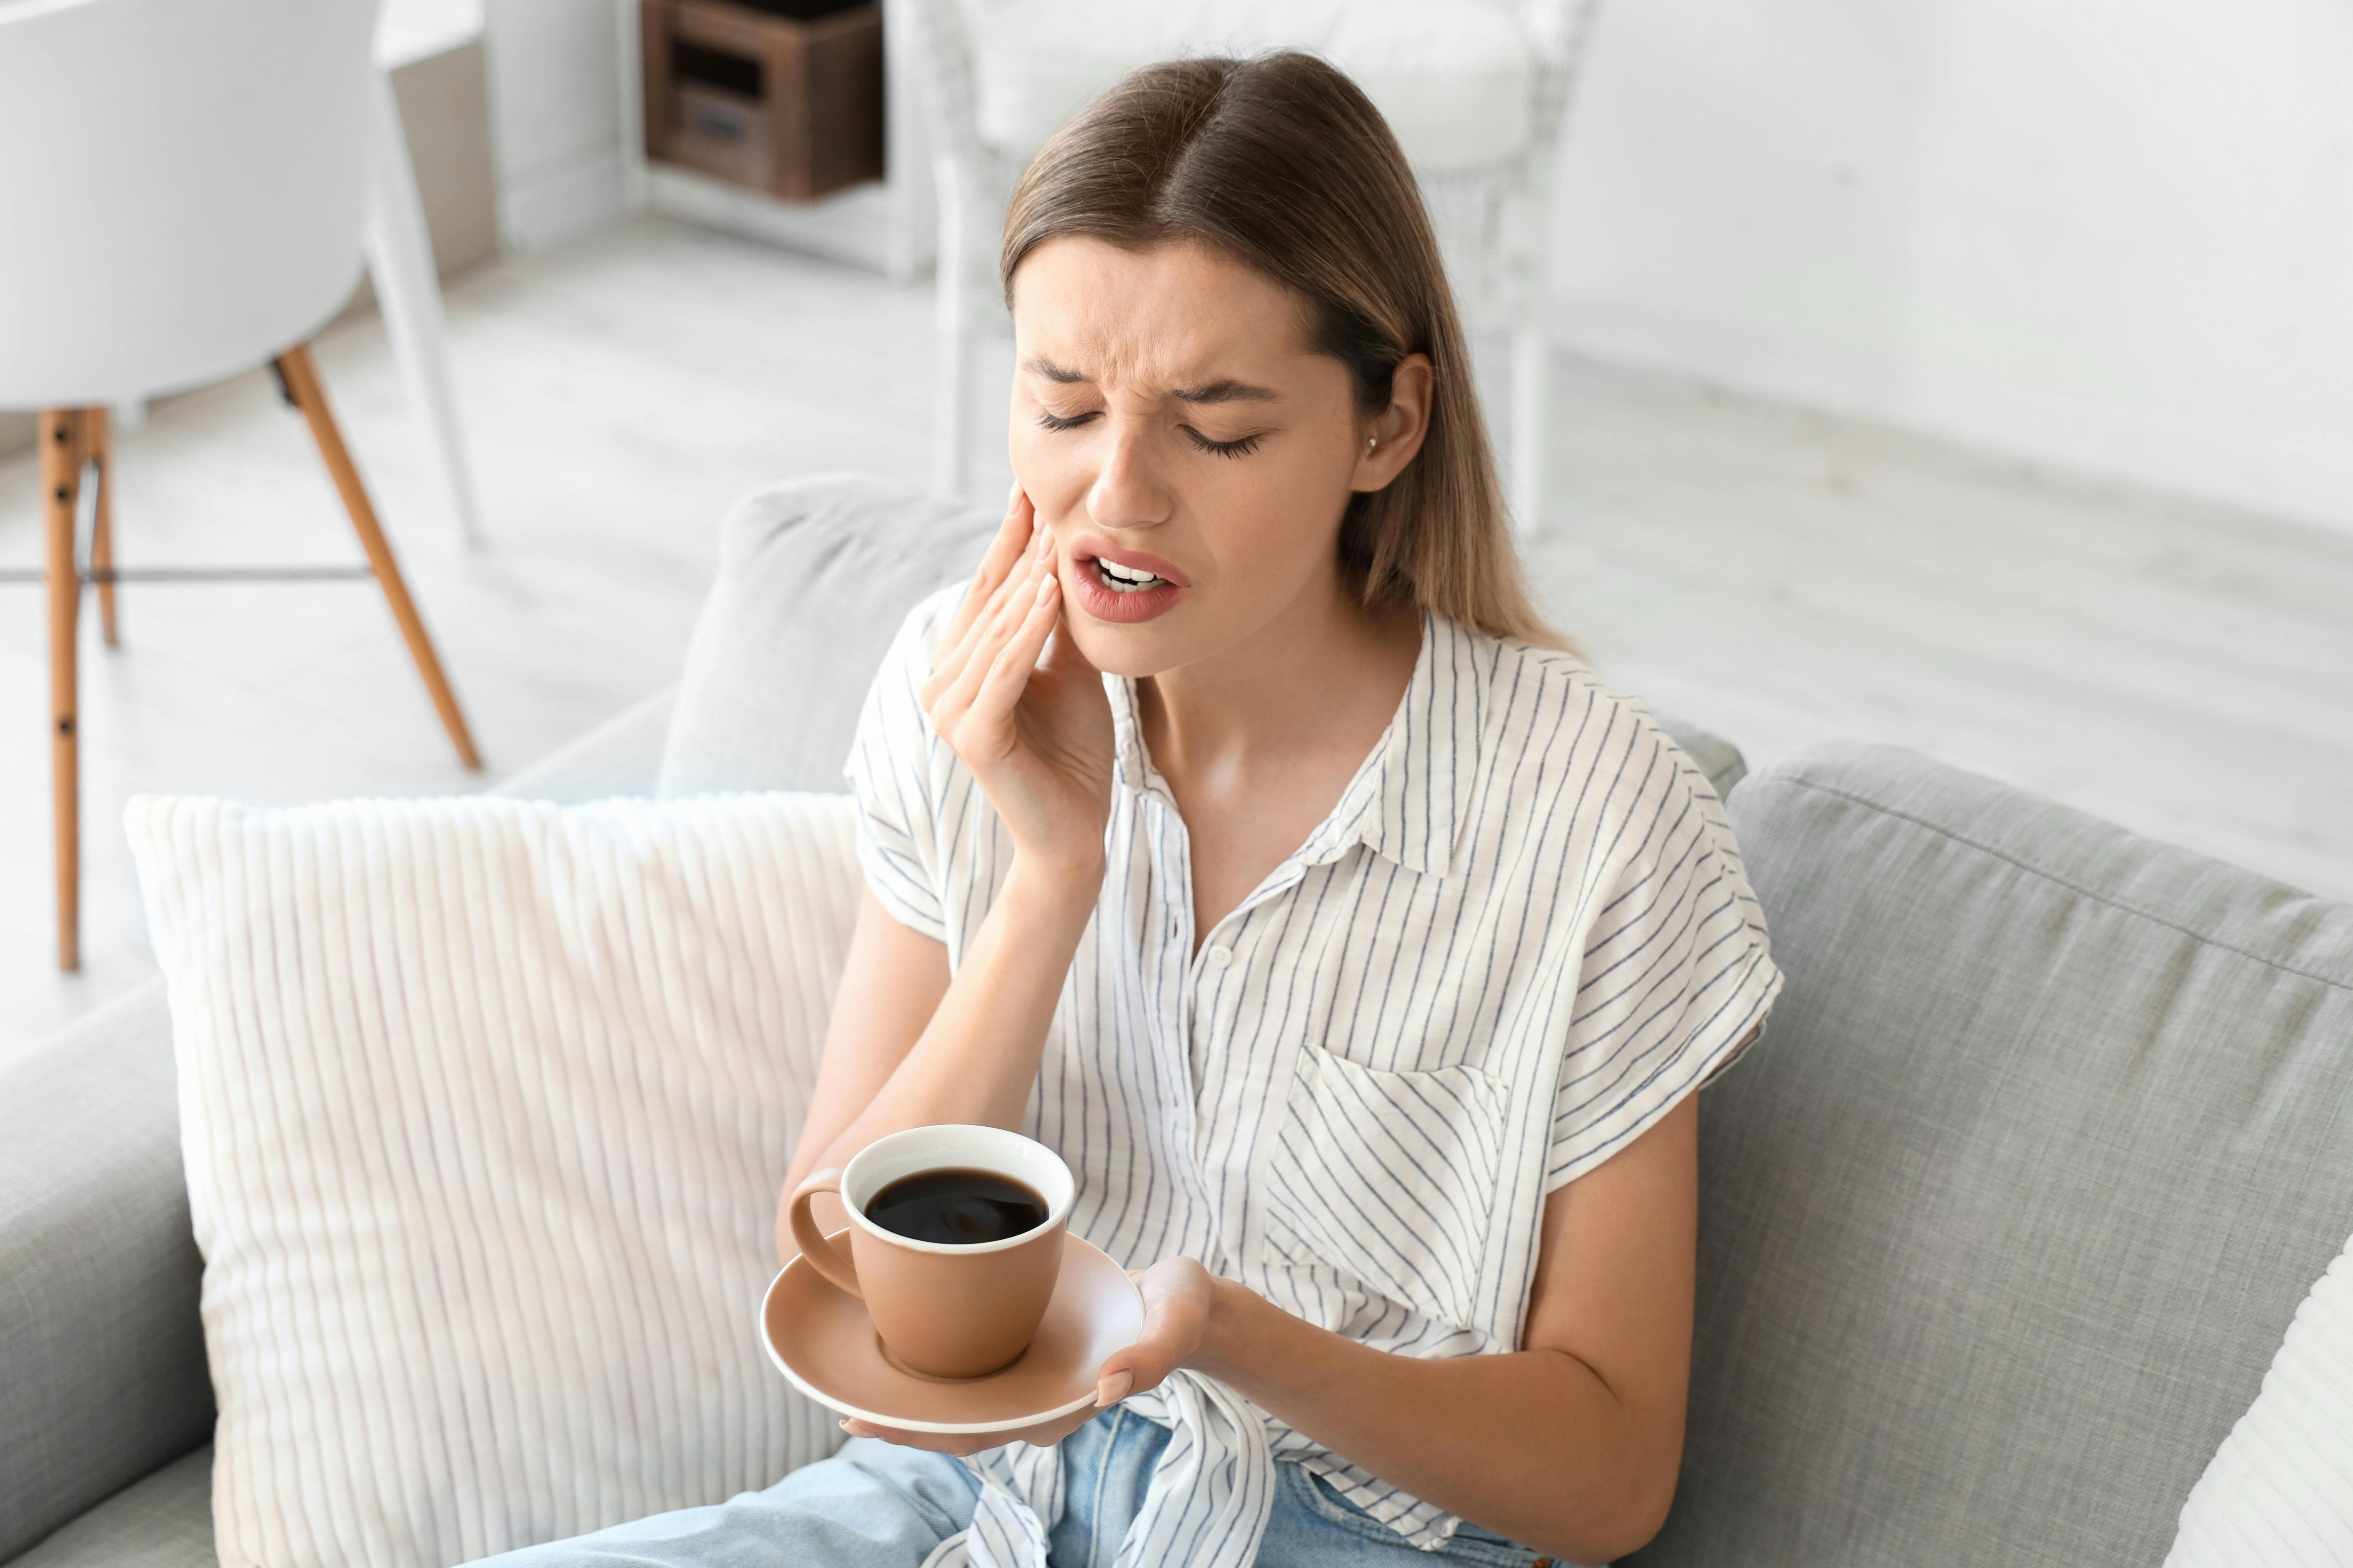
M 224 1568 L 440 1568 L 833 1448 L 765 1366 L 847 797 L 127 813 Z

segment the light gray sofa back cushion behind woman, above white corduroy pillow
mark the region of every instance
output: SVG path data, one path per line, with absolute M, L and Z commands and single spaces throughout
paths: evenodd
M 656 795 L 840 790 L 866 686 L 906 611 L 981 562 L 1000 517 L 889 480 L 753 491 L 720 524 Z M 1659 715 L 1729 795 L 1739 750 Z

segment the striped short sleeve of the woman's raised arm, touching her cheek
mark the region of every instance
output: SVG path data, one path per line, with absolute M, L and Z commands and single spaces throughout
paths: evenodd
M 859 802 L 859 865 L 866 886 L 901 926 L 948 940 L 936 785 L 946 762 L 939 731 L 922 710 L 932 672 L 932 632 L 962 590 L 918 604 L 875 670 L 842 773 Z

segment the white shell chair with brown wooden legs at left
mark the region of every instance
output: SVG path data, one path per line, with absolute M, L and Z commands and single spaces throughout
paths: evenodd
M 336 433 L 306 341 L 360 277 L 384 101 L 374 0 L 0 7 L 0 407 L 40 409 L 56 957 L 80 964 L 75 628 L 113 642 L 106 407 L 273 364 L 318 442 L 426 691 L 473 736 Z M 87 555 L 80 538 L 92 487 Z

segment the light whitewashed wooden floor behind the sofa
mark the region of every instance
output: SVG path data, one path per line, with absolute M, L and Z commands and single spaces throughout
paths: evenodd
M 640 223 L 475 273 L 449 315 L 485 557 L 452 543 L 374 322 L 334 329 L 320 367 L 489 776 L 673 679 L 729 498 L 927 468 L 920 289 Z M 1897 741 L 2353 898 L 2353 541 L 1661 376 L 1558 374 L 1560 515 L 1534 567 L 1617 684 L 1753 762 Z M 261 374 L 158 404 L 118 484 L 127 564 L 358 559 Z M 38 562 L 33 505 L 31 458 L 0 463 L 0 562 Z M 129 795 L 480 783 L 367 583 L 125 588 L 125 646 L 85 628 L 85 969 L 59 976 L 40 595 L 0 585 L 0 1058 L 153 973 Z

